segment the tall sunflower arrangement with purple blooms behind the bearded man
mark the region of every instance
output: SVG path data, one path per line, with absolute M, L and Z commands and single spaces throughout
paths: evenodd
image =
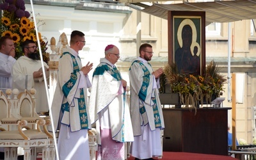
M 0 35 L 11 36 L 15 44 L 15 59 L 23 56 L 22 43 L 25 40 L 36 42 L 36 30 L 33 17 L 26 11 L 24 0 L 4 0 L 0 4 L 3 15 L 0 24 Z M 44 61 L 48 62 L 47 38 L 38 33 Z

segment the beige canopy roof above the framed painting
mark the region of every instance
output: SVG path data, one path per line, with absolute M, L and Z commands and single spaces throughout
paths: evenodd
M 125 0 L 124 0 L 125 1 Z M 127 0 L 129 1 L 129 0 Z M 141 0 L 132 0 L 141 1 Z M 167 19 L 168 11 L 205 11 L 205 23 L 234 22 L 237 20 L 256 19 L 256 0 L 214 1 L 202 3 L 157 4 L 147 6 L 141 3 L 131 3 L 143 6 L 142 12 Z

